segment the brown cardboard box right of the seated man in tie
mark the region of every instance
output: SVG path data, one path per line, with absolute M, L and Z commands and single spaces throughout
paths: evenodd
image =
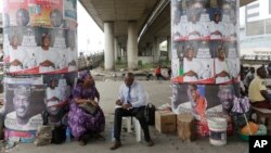
M 176 132 L 176 114 L 168 111 L 156 111 L 155 128 L 162 133 Z

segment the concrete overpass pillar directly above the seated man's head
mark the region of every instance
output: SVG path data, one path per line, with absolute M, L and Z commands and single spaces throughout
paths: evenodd
M 138 29 L 136 22 L 128 23 L 127 63 L 129 69 L 138 66 Z

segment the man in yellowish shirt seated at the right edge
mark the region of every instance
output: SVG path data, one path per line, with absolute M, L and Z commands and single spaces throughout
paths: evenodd
M 264 66 L 261 66 L 257 69 L 257 76 L 248 87 L 248 98 L 253 106 L 271 110 L 271 101 L 268 98 L 264 78 L 267 78 L 267 71 Z

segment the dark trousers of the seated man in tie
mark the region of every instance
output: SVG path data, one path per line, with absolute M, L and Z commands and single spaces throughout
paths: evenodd
M 145 106 L 133 107 L 130 110 L 125 110 L 122 107 L 118 107 L 115 110 L 114 138 L 116 139 L 116 141 L 120 142 L 122 116 L 134 116 L 139 120 L 140 126 L 144 131 L 145 141 L 151 140 L 150 132 L 149 132 L 149 125 L 146 123 L 144 110 L 145 110 Z

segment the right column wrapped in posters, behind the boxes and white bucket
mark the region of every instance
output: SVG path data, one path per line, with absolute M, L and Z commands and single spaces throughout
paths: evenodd
M 207 116 L 228 116 L 238 97 L 238 0 L 171 0 L 172 111 L 191 112 L 202 137 Z

